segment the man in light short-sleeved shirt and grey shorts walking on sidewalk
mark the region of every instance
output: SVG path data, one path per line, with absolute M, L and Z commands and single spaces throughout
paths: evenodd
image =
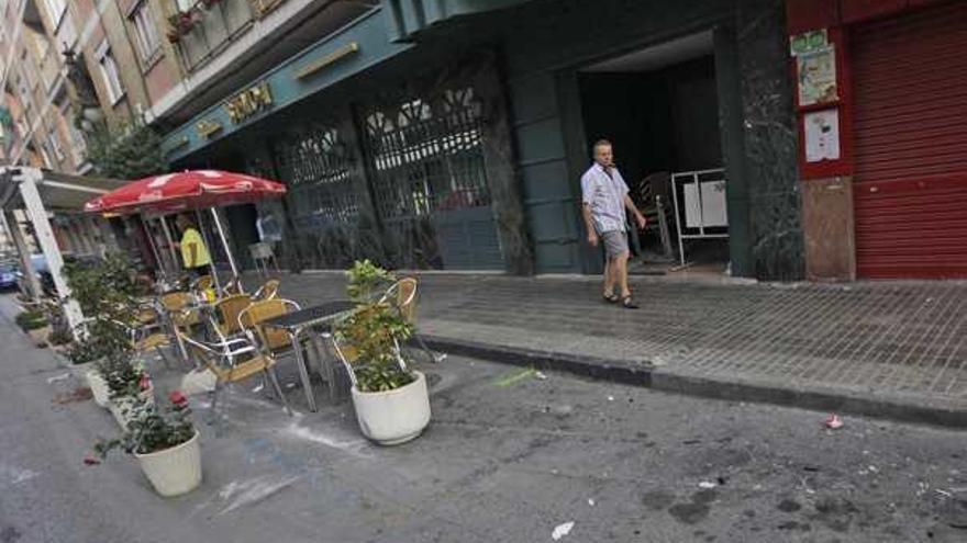
M 632 212 L 638 228 L 647 220 L 638 212 L 627 195 L 627 185 L 618 168 L 611 142 L 600 139 L 594 143 L 594 163 L 581 176 L 582 214 L 588 228 L 588 242 L 598 247 L 604 245 L 608 259 L 604 264 L 604 299 L 621 303 L 627 309 L 637 309 L 627 287 L 627 227 L 625 208 Z M 614 293 L 615 285 L 621 294 Z

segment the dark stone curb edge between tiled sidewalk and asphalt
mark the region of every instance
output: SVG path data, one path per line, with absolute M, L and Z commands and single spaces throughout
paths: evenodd
M 538 351 L 477 341 L 420 335 L 432 349 L 458 357 L 469 357 L 502 364 L 570 373 L 581 377 L 642 386 L 655 391 L 703 398 L 751 401 L 798 407 L 818 411 L 837 411 L 898 422 L 913 422 L 945 428 L 967 428 L 967 405 L 938 403 L 923 405 L 900 395 L 859 395 L 851 391 L 812 387 L 791 388 L 771 384 L 720 381 L 702 376 L 677 375 L 663 367 L 637 365 L 627 361 L 597 357 Z

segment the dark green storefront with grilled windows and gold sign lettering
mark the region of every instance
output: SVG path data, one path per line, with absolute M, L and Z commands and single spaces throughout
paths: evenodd
M 298 77 L 311 58 L 347 47 L 345 58 Z M 634 53 L 663 47 L 685 50 L 646 77 Z M 627 65 L 633 84 L 599 72 L 620 58 L 637 63 Z M 387 0 L 267 75 L 276 99 L 267 111 L 234 125 L 216 105 L 166 145 L 179 168 L 286 182 L 286 201 L 262 212 L 285 216 L 290 265 L 374 258 L 408 269 L 594 273 L 601 260 L 582 244 L 578 179 L 590 140 L 603 133 L 620 138 L 626 163 L 619 157 L 619 165 L 631 174 L 724 168 L 733 273 L 798 279 L 797 136 L 785 63 L 778 0 L 486 9 Z M 658 121 L 651 116 L 660 100 L 636 106 L 665 80 L 679 89 L 673 99 L 701 111 Z M 196 126 L 205 118 L 230 129 L 202 138 Z M 654 145 L 663 122 L 699 128 L 669 132 L 677 150 L 663 150 Z

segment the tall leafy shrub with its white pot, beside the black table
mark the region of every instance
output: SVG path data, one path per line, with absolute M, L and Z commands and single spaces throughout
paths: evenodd
M 353 381 L 353 407 L 363 434 L 391 445 L 418 438 L 430 423 L 426 377 L 409 366 L 399 348 L 412 326 L 379 295 L 394 278 L 368 260 L 348 271 L 356 309 L 336 327 L 336 349 Z

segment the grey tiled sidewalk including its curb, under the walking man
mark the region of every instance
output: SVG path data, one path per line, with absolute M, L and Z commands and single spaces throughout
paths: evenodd
M 967 283 L 742 284 L 635 278 L 642 308 L 593 278 L 420 276 L 438 349 L 702 396 L 967 427 Z M 303 305 L 338 273 L 286 275 Z

